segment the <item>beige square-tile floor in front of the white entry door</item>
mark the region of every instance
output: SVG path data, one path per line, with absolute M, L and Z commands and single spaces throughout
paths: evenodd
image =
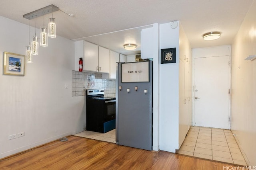
M 226 129 L 191 126 L 177 153 L 246 166 L 232 132 Z

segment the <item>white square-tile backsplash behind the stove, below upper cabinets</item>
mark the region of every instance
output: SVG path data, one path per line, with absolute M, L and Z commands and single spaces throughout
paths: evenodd
M 85 96 L 86 89 L 102 88 L 105 97 L 116 97 L 116 80 L 102 79 L 101 73 L 72 70 L 72 96 Z

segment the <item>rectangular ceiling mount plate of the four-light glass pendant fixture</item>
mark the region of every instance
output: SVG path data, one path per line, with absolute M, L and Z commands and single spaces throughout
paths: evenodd
M 52 13 L 52 12 L 55 12 L 55 11 L 58 11 L 58 10 L 59 10 L 59 7 L 57 7 L 55 5 L 49 5 L 49 6 L 46 6 L 44 8 L 41 8 L 39 10 L 30 12 L 28 14 L 24 14 L 23 18 L 31 20 L 31 19 L 34 19 L 36 17 L 40 17 L 40 16 L 43 16 L 43 15 L 46 15 L 46 14 L 49 14 L 49 13 Z

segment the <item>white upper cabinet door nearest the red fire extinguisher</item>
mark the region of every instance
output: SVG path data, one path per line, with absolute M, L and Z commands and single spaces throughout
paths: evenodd
M 84 41 L 84 70 L 98 71 L 98 45 Z

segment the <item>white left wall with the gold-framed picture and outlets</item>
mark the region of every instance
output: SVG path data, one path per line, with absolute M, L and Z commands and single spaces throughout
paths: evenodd
M 2 16 L 0 23 L 3 70 L 4 51 L 25 55 L 28 25 Z M 32 37 L 34 29 L 30 31 Z M 74 42 L 60 36 L 49 38 L 48 47 L 39 47 L 32 62 L 26 63 L 25 76 L 0 74 L 0 158 L 85 128 L 84 96 L 72 97 Z M 25 136 L 8 140 L 20 132 Z

